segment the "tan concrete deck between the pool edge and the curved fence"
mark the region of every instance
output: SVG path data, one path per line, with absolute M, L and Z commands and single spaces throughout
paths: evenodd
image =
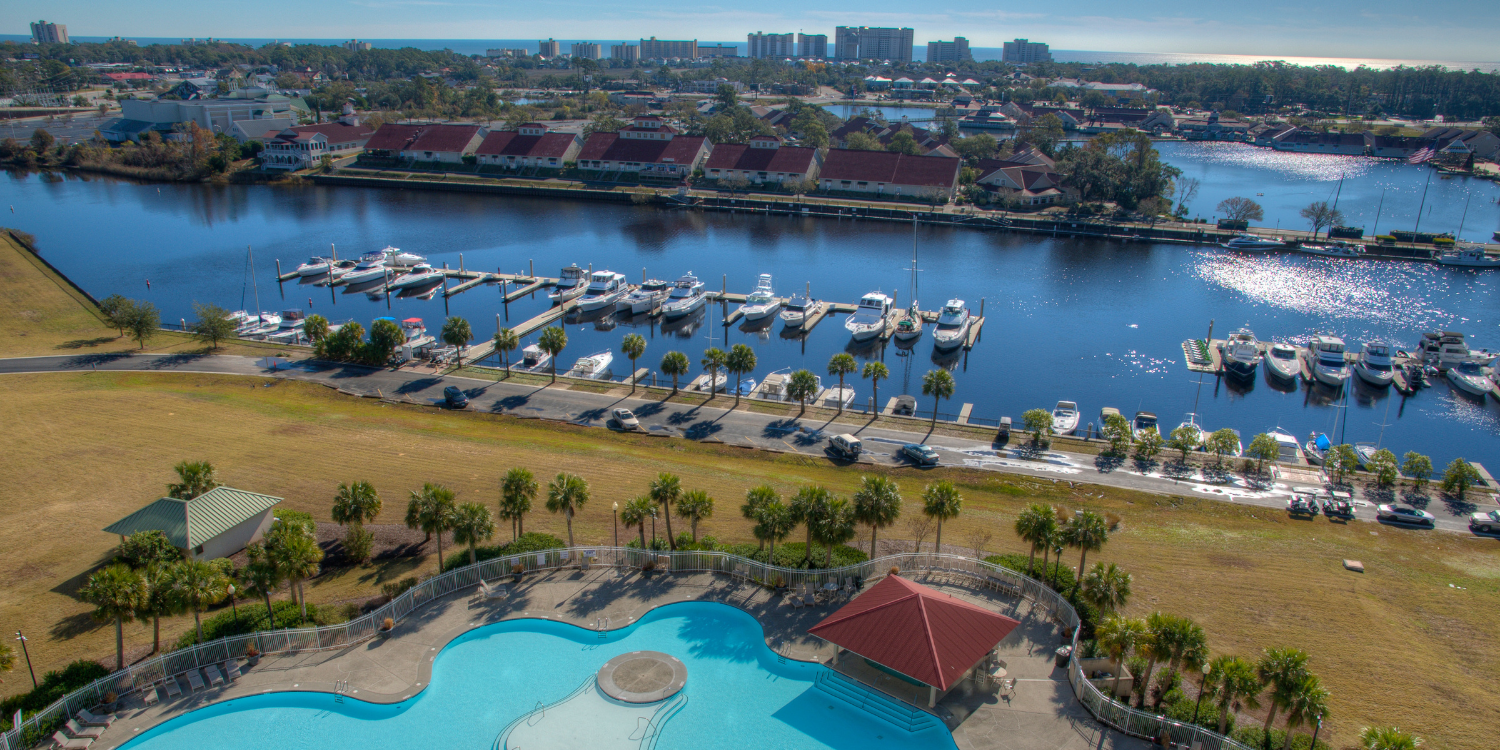
M 964 682 L 939 700 L 942 717 L 962 750 L 1086 750 L 1144 748 L 1146 742 L 1107 730 L 1072 698 L 1064 669 L 1053 666 L 1059 630 L 1030 602 L 963 585 L 962 579 L 915 580 L 966 602 L 1010 615 L 1022 622 L 1002 644 L 1000 657 L 1017 687 L 1010 696 Z M 507 585 L 508 586 L 508 585 Z M 627 627 L 646 612 L 675 602 L 718 602 L 753 615 L 765 630 L 766 645 L 788 658 L 828 663 L 832 646 L 807 634 L 807 628 L 837 609 L 838 603 L 792 609 L 783 597 L 722 573 L 618 574 L 614 568 L 552 570 L 531 574 L 508 586 L 507 598 L 480 598 L 474 590 L 428 603 L 402 620 L 388 636 L 339 650 L 262 657 L 232 684 L 188 692 L 144 706 L 138 694 L 128 696 L 118 720 L 94 742 L 110 750 L 129 742 L 152 726 L 222 700 L 274 692 L 322 692 L 333 702 L 339 682 L 348 699 L 376 704 L 405 700 L 426 687 L 436 654 L 454 638 L 490 622 L 544 618 L 590 630 L 608 618 L 609 628 Z M 848 668 L 849 658 L 843 660 Z M 867 672 L 843 669 L 870 687 L 900 693 L 896 684 L 880 684 Z M 891 678 L 894 682 L 894 678 Z M 898 694 L 908 700 L 912 696 Z

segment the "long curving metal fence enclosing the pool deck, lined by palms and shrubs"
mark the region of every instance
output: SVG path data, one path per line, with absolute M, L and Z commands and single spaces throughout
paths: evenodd
M 346 648 L 360 640 L 372 638 L 386 618 L 399 622 L 418 608 L 446 597 L 454 591 L 477 586 L 480 580 L 490 580 L 513 574 L 519 566 L 522 574 L 580 564 L 584 558 L 596 566 L 642 568 L 652 562 L 656 570 L 681 573 L 724 573 L 758 585 L 783 585 L 796 588 L 806 584 L 820 586 L 824 584 L 843 584 L 846 578 L 874 579 L 884 576 L 896 567 L 902 572 L 926 572 L 933 574 L 958 576 L 970 579 L 980 586 L 1006 591 L 1011 596 L 1034 602 L 1034 612 L 1041 609 L 1046 616 L 1056 622 L 1064 632 L 1072 632 L 1072 646 L 1077 652 L 1078 644 L 1078 614 L 1068 600 L 1053 591 L 1046 584 L 1028 578 L 1014 570 L 986 562 L 982 560 L 960 555 L 939 555 L 908 552 L 867 560 L 854 566 L 837 568 L 788 568 L 759 562 L 728 552 L 663 552 L 638 548 L 608 548 L 608 546 L 576 546 L 566 549 L 549 549 L 542 552 L 525 552 L 482 561 L 450 570 L 435 578 L 429 578 L 417 586 L 402 592 L 399 597 L 382 604 L 380 609 L 362 615 L 338 626 L 309 627 L 297 630 L 262 630 L 243 636 L 230 636 L 208 644 L 198 644 L 190 648 L 160 654 L 146 662 L 130 664 L 118 672 L 106 675 L 87 687 L 78 688 L 56 704 L 27 717 L 20 726 L 0 734 L 0 750 L 21 750 L 22 736 L 33 734 L 33 741 L 44 740 L 46 734 L 82 708 L 93 708 L 104 702 L 105 693 L 116 693 L 123 698 L 136 690 L 154 690 L 158 682 L 177 675 L 201 669 L 208 664 L 240 658 L 254 645 L 262 656 L 297 654 L 309 651 L 324 651 L 332 648 Z M 1254 750 L 1218 734 L 1194 726 L 1173 722 L 1167 717 L 1137 711 L 1120 705 L 1104 696 L 1094 684 L 1083 680 L 1077 658 L 1068 666 L 1068 681 L 1072 692 L 1084 708 L 1101 723 L 1120 732 L 1158 738 L 1162 732 L 1174 741 L 1197 740 L 1204 750 Z

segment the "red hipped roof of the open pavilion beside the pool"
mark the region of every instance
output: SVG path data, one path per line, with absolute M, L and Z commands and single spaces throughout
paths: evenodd
M 1017 626 L 1016 620 L 902 576 L 885 576 L 807 632 L 948 690 Z

